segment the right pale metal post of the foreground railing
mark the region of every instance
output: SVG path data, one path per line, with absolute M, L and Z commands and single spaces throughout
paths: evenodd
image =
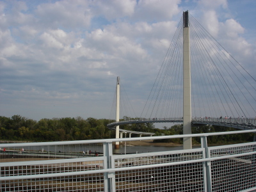
M 209 158 L 210 154 L 208 152 L 207 136 L 201 137 L 201 147 L 205 149 L 204 158 Z M 205 191 L 207 192 L 212 191 L 211 161 L 204 162 L 204 188 L 205 188 Z

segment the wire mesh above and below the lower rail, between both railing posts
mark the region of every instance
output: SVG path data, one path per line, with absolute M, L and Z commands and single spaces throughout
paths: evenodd
M 202 149 L 115 157 L 115 167 L 202 159 Z M 205 191 L 203 163 L 185 163 L 116 172 L 116 191 Z

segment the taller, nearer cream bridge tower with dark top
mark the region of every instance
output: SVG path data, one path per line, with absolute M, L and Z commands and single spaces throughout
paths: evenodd
M 188 11 L 183 12 L 183 134 L 191 134 L 191 70 Z M 183 148 L 192 148 L 191 138 L 183 139 Z

